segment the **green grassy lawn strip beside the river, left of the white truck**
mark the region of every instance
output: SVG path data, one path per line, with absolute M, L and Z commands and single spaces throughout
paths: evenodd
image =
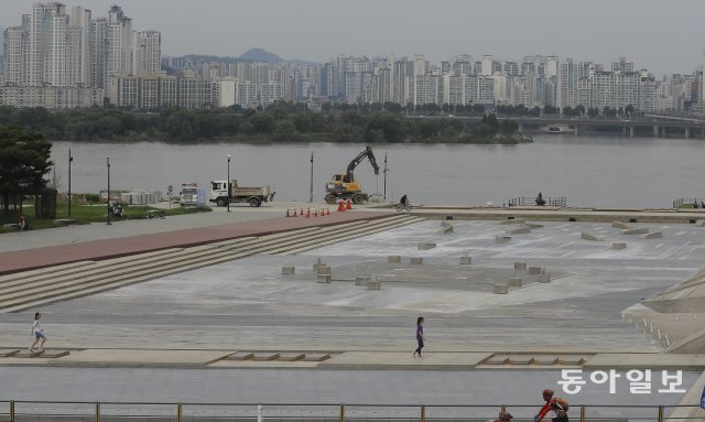
M 171 209 L 155 208 L 144 205 L 123 205 L 123 216 L 127 219 L 142 219 L 147 218 L 147 212 L 159 210 L 164 215 L 180 215 L 180 214 L 193 214 L 198 213 L 196 208 L 182 208 L 178 204 L 172 204 Z M 203 208 L 203 212 L 212 210 L 209 207 Z M 12 212 L 11 212 L 12 213 Z M 26 216 L 26 223 L 30 230 L 37 230 L 44 228 L 53 228 L 54 226 L 51 219 L 35 219 L 33 204 L 25 204 L 23 213 Z M 83 205 L 72 202 L 70 205 L 70 218 L 78 220 L 78 224 L 88 223 L 106 223 L 108 214 L 108 206 L 106 204 Z M 56 203 L 56 218 L 68 218 L 68 202 L 58 199 Z M 111 220 L 115 220 L 111 218 Z M 14 213 L 9 219 L 0 218 L 0 224 L 17 223 Z M 3 229 L 0 227 L 0 232 L 15 231 L 14 229 Z

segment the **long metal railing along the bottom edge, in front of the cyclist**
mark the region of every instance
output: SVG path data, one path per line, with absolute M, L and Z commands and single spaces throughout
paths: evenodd
M 513 422 L 529 422 L 536 404 L 321 404 L 321 403 L 155 403 L 90 401 L 0 401 L 0 421 L 72 422 L 213 422 L 213 421 L 465 421 L 485 422 L 500 410 Z M 686 422 L 702 416 L 680 416 L 698 405 L 572 405 L 571 421 Z M 672 414 L 666 416 L 666 414 Z M 550 418 L 549 418 L 550 420 Z

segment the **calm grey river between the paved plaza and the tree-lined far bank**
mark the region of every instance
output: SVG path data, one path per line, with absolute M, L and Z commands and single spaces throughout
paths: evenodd
M 59 191 L 97 193 L 110 186 L 166 193 L 183 182 L 209 187 L 230 177 L 241 186 L 271 185 L 281 201 L 308 201 L 314 152 L 314 201 L 323 201 L 325 182 L 345 173 L 362 144 L 173 145 L 54 142 Z M 571 206 L 670 207 L 675 198 L 705 197 L 705 141 L 695 139 L 611 138 L 539 134 L 521 145 L 378 144 L 380 169 L 388 155 L 387 196 L 406 193 L 414 204 L 495 205 L 518 196 L 565 196 Z M 365 192 L 383 193 L 365 161 L 355 171 Z

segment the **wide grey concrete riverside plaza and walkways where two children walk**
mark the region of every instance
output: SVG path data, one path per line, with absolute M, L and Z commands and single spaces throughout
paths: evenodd
M 262 212 L 267 214 L 258 214 Z M 508 244 L 496 244 L 495 237 L 511 227 L 498 224 L 498 212 L 502 220 L 514 216 L 539 224 L 531 232 L 512 235 Z M 682 370 L 685 389 L 702 383 L 705 355 L 663 354 L 654 335 L 621 318 L 622 311 L 642 297 L 680 282 L 703 264 L 699 239 L 705 228 L 695 224 L 641 223 L 636 214 L 638 223 L 631 224 L 634 228 L 663 235 L 647 239 L 623 235 L 609 224 L 587 217 L 571 221 L 563 215 L 542 223 L 529 217 L 531 210 L 521 209 L 451 213 L 447 208 L 420 208 L 409 215 L 368 208 L 339 216 L 332 213 L 327 224 L 335 224 L 322 229 L 338 227 L 339 237 L 328 240 L 327 234 L 333 231 L 324 231 L 317 240 L 322 246 L 314 242 L 303 248 L 299 245 L 322 230 L 316 226 L 326 220 L 281 217 L 284 213 L 282 208 L 230 215 L 216 212 L 154 221 L 162 226 L 119 221 L 109 227 L 10 234 L 44 236 L 50 250 L 90 244 L 94 248 L 82 249 L 97 257 L 100 253 L 91 249 L 101 241 L 135 248 L 142 239 L 133 236 L 135 230 L 158 227 L 164 231 L 164 241 L 176 238 L 170 229 L 182 228 L 176 232 L 205 231 L 215 236 L 214 245 L 232 241 L 234 247 L 258 237 L 246 228 L 248 225 L 260 227 L 260 232 L 267 234 L 262 238 L 299 236 L 295 232 L 301 237 L 293 249 L 237 256 L 23 311 L 0 312 L 0 349 L 26 347 L 32 314 L 41 311 L 50 351 L 69 351 L 61 357 L 0 358 L 0 386 L 12 386 L 11 399 L 26 400 L 274 402 L 282 398 L 292 402 L 359 403 L 376 398 L 377 403 L 460 404 L 498 402 L 490 399 L 501 398 L 508 403 L 530 403 L 538 400 L 541 389 L 561 388 L 556 382 L 562 369 L 582 370 L 586 377 L 595 370 L 615 369 L 622 377 L 619 394 L 592 386 L 571 402 L 623 408 L 681 402 L 683 393 L 657 393 L 660 370 Z M 673 214 L 688 219 L 699 216 Z M 425 215 L 444 221 L 453 215 L 454 230 L 441 232 L 437 219 L 414 219 Z M 364 221 L 402 216 L 409 224 L 366 232 Z M 466 216 L 473 218 L 465 220 Z M 204 218 L 204 227 L 180 223 L 188 218 Z M 228 224 L 224 218 L 239 220 Z M 252 220 L 243 221 L 246 218 Z M 634 212 L 609 212 L 599 218 L 629 221 Z M 115 237 L 96 240 L 80 235 L 85 241 L 62 246 L 70 230 L 91 229 L 96 237 Z M 358 230 L 357 235 L 346 237 L 346 231 L 352 230 Z M 130 236 L 118 236 L 126 232 Z M 586 240 L 581 238 L 582 232 L 603 240 Z M 158 235 L 145 234 L 144 238 Z M 35 241 L 24 240 L 25 245 Z M 180 253 L 187 257 L 191 251 L 206 250 L 199 249 L 209 247 L 204 240 L 205 235 L 180 240 L 181 246 L 144 241 L 148 248 L 130 249 L 127 257 L 120 250 L 110 253 L 129 258 L 129 253 L 138 257 L 182 249 Z M 612 250 L 612 241 L 626 242 L 627 248 Z M 417 248 L 430 242 L 434 244 L 432 249 Z M 152 249 L 160 247 L 166 249 Z M 31 253 L 35 249 L 23 250 Z M 473 258 L 469 266 L 458 264 L 465 253 Z M 401 262 L 389 262 L 388 256 L 400 256 Z M 102 257 L 95 259 L 116 259 Z M 410 258 L 421 258 L 423 263 L 411 264 Z M 312 264 L 317 262 L 330 268 L 330 283 L 316 282 Z M 517 269 L 517 262 L 544 268 L 551 282 L 540 282 L 528 269 Z M 284 274 L 283 267 L 293 267 L 295 273 Z M 356 285 L 356 277 L 369 272 L 379 274 L 381 290 Z M 517 277 L 522 279 L 520 288 L 508 294 L 492 293 L 494 284 Z M 13 294 L 21 295 L 22 291 Z M 411 356 L 417 315 L 427 321 L 429 345 L 423 359 Z M 274 355 L 278 357 L 271 358 Z M 628 382 L 621 381 L 631 369 L 654 371 L 658 378 L 651 394 L 629 394 Z M 61 391 L 36 387 L 39 379 L 59 382 L 69 372 L 80 382 Z M 113 381 L 105 385 L 108 378 Z M 242 387 L 224 396 L 225 386 L 232 383 Z M 424 392 L 408 388 L 419 383 L 435 387 Z M 159 392 L 149 388 L 158 385 L 169 387 L 160 387 Z M 470 393 L 458 394 L 454 389 Z M 528 409 L 519 414 L 531 415 Z M 629 415 L 629 410 L 625 408 L 618 415 Z

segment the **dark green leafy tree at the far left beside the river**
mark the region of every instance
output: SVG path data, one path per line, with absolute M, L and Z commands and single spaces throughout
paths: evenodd
M 20 126 L 0 128 L 0 195 L 3 217 L 10 216 L 10 197 L 46 186 L 44 176 L 54 164 L 52 143 L 42 133 Z

